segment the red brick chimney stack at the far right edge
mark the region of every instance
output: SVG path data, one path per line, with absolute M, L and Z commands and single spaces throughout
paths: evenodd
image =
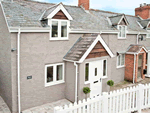
M 135 9 L 135 16 L 140 16 L 143 19 L 150 18 L 150 4 L 140 4 L 140 7 Z

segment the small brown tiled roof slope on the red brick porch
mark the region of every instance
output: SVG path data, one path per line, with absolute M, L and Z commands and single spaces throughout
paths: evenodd
M 144 45 L 131 44 L 131 45 L 129 46 L 129 48 L 127 49 L 127 52 L 139 53 L 140 50 L 141 50 L 143 47 L 145 48 Z

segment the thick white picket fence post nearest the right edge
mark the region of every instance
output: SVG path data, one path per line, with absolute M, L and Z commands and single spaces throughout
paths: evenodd
M 143 88 L 144 85 L 139 84 L 139 90 L 138 90 L 138 100 L 137 100 L 137 108 L 138 108 L 138 113 L 141 113 L 142 111 L 142 102 L 143 102 Z

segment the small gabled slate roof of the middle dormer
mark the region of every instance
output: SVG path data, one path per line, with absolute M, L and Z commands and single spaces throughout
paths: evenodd
M 111 24 L 112 24 L 113 26 L 115 26 L 115 25 L 120 25 L 122 21 L 123 21 L 123 23 L 124 23 L 125 25 L 128 25 L 128 24 L 129 24 L 129 22 L 127 21 L 127 18 L 126 18 L 126 16 L 125 16 L 124 14 L 115 15 L 115 16 L 110 16 L 109 19 L 110 19 Z

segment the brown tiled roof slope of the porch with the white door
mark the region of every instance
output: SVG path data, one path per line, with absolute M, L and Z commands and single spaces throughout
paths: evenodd
M 64 59 L 79 61 L 84 53 L 88 50 L 91 44 L 96 39 L 97 35 L 94 37 L 80 37 L 76 43 L 72 46 L 72 48 L 68 51 L 68 53 L 64 56 Z

